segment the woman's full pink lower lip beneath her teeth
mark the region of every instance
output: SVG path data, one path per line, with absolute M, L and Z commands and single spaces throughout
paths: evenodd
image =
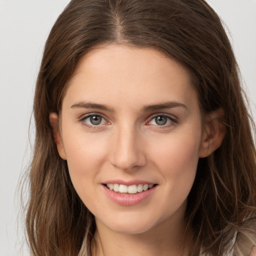
M 156 186 L 145 190 L 143 192 L 139 192 L 136 194 L 126 194 L 126 193 L 118 193 L 113 190 L 108 189 L 105 185 L 102 184 L 105 194 L 110 198 L 113 202 L 123 205 L 123 206 L 131 206 L 138 204 L 148 198 L 156 189 Z

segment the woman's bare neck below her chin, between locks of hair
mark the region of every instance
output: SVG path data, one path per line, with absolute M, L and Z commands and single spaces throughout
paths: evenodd
M 192 232 L 184 233 L 184 223 L 168 220 L 138 234 L 115 232 L 96 219 L 97 229 L 91 244 L 92 256 L 189 255 Z

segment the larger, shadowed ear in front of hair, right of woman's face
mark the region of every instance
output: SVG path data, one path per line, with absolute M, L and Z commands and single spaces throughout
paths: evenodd
M 221 122 L 223 116 L 222 108 L 207 115 L 205 129 L 202 132 L 199 157 L 208 156 L 221 145 L 226 131 L 225 125 Z

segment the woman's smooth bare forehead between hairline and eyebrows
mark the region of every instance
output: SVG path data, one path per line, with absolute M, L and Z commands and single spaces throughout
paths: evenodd
M 153 48 L 108 44 L 80 59 L 68 83 L 67 100 L 131 107 L 171 100 L 192 104 L 197 97 L 189 71 L 178 61 Z

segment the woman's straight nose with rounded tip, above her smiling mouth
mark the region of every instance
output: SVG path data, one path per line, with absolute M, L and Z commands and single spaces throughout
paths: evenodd
M 122 170 L 133 170 L 146 163 L 142 135 L 135 127 L 123 125 L 113 134 L 110 162 Z

